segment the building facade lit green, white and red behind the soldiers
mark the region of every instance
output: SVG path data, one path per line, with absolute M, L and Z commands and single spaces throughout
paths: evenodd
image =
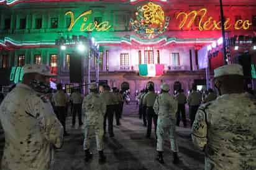
M 198 68 L 197 51 L 221 37 L 218 1 L 2 0 L 0 3 L 0 74 L 4 74 L 4 68 L 43 63 L 58 73 L 58 82 L 70 86 L 70 58 L 76 56 L 76 48 L 67 46 L 61 50 L 64 47 L 56 45 L 55 40 L 64 37 L 71 41 L 73 35 L 83 35 L 94 37 L 99 44 L 99 80 L 111 87 L 129 84 L 132 96 L 148 81 L 155 83 L 156 91 L 162 82 L 168 83 L 171 92 L 174 86 L 181 85 L 188 91 L 193 83 L 205 84 L 204 70 Z M 254 34 L 255 3 L 224 2 L 229 35 Z M 91 58 L 91 81 L 96 80 L 93 72 L 96 61 Z M 154 65 L 147 67 L 152 70 L 162 65 L 163 74 L 139 75 L 141 64 Z M 84 69 L 87 83 L 88 68 Z

